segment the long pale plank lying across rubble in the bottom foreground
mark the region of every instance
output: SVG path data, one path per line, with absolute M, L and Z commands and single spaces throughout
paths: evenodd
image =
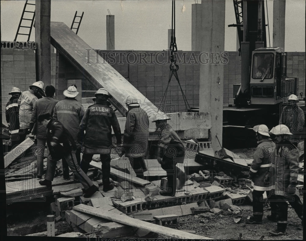
M 195 235 L 195 234 L 190 234 L 190 233 L 186 233 L 186 232 L 182 232 L 180 230 L 174 230 L 172 228 L 167 228 L 167 227 L 163 227 L 157 224 L 150 224 L 148 225 L 148 223 L 146 221 L 142 221 L 142 220 L 138 220 L 132 217 L 128 217 L 125 215 L 120 215 L 120 214 L 115 214 L 115 213 L 111 213 L 111 212 L 107 212 L 107 211 L 103 211 L 101 209 L 97 209 L 91 206 L 87 206 L 84 204 L 79 204 L 77 206 L 73 207 L 74 210 L 80 211 L 80 212 L 84 212 L 84 213 L 89 213 L 92 214 L 94 216 L 97 217 L 102 217 L 102 218 L 106 218 L 108 220 L 114 221 L 114 222 L 118 222 L 121 224 L 126 224 L 126 225 L 130 225 L 132 227 L 136 227 L 136 228 L 143 228 L 145 230 L 149 230 L 152 232 L 156 232 L 162 235 L 166 235 L 166 236 L 170 236 L 171 238 L 178 238 L 178 239 L 211 239 L 205 236 L 200 236 L 200 235 Z

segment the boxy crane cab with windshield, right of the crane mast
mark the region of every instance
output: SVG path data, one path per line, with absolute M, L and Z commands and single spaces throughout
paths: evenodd
M 298 92 L 298 78 L 287 78 L 287 58 L 282 48 L 252 51 L 250 94 L 252 105 L 275 105 Z

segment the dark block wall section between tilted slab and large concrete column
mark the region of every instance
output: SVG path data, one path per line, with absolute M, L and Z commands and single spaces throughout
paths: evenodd
M 98 51 L 98 50 L 97 50 Z M 124 51 L 120 50 L 99 50 L 99 54 L 109 61 L 122 76 L 136 87 L 151 102 L 159 106 L 160 100 L 166 91 L 170 74 L 170 63 L 168 51 Z M 199 52 L 194 52 L 197 58 Z M 184 56 L 185 55 L 185 56 Z M 147 57 L 144 57 L 147 56 Z M 180 84 L 190 107 L 199 106 L 199 81 L 200 81 L 200 64 L 189 61 L 192 58 L 191 51 L 178 51 L 179 58 L 185 57 L 179 63 L 177 71 Z M 136 61 L 134 58 L 136 57 Z M 141 59 L 143 57 L 143 59 Z M 136 63 L 134 63 L 136 62 Z M 185 102 L 181 94 L 181 89 L 174 76 L 172 76 L 167 95 L 165 110 L 170 112 L 186 111 Z

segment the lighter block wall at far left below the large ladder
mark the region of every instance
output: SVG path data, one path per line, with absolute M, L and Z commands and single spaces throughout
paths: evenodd
M 1 48 L 1 109 L 2 123 L 6 123 L 5 106 L 12 87 L 21 92 L 36 81 L 35 52 L 32 49 Z

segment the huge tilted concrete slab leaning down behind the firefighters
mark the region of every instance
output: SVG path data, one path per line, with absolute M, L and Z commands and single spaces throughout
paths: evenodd
M 157 107 L 66 24 L 62 22 L 51 22 L 50 35 L 51 44 L 79 69 L 96 89 L 101 87 L 107 89 L 113 96 L 110 102 L 123 116 L 125 116 L 125 112 L 127 111 L 124 100 L 129 95 L 132 95 L 139 99 L 141 103 L 145 103 L 144 105 L 149 119 L 152 120 L 153 115 L 157 111 Z

